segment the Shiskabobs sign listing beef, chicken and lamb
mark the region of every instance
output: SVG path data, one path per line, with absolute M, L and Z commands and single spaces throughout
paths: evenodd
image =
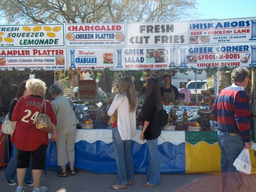
M 256 17 L 190 21 L 189 44 L 221 44 L 256 40 Z

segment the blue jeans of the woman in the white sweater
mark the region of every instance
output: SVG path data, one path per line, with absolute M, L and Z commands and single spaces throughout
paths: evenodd
M 131 140 L 122 140 L 117 128 L 112 128 L 112 137 L 116 152 L 116 184 L 126 185 L 128 182 L 134 182 L 134 167 L 131 156 Z

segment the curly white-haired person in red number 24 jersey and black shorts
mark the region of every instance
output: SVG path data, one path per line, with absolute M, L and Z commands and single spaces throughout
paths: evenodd
M 47 192 L 47 186 L 40 186 L 42 169 L 45 169 L 46 149 L 49 143 L 48 133 L 36 128 L 35 122 L 39 112 L 43 96 L 45 95 L 46 85 L 40 79 L 29 79 L 26 82 L 26 90 L 31 95 L 20 99 L 15 105 L 12 114 L 12 121 L 15 130 L 11 141 L 18 149 L 17 155 L 17 180 L 18 186 L 15 192 L 24 192 L 23 180 L 26 168 L 29 167 L 30 155 L 32 157 L 32 174 L 34 180 L 34 189 L 32 192 Z M 55 113 L 52 105 L 46 102 L 47 114 L 56 125 Z M 41 113 L 45 113 L 42 108 Z M 56 133 L 52 134 L 52 140 L 56 140 Z

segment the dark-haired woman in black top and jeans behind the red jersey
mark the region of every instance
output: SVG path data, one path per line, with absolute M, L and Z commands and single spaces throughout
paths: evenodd
M 22 81 L 19 84 L 16 99 L 13 99 L 10 106 L 9 106 L 9 119 L 11 121 L 12 121 L 12 112 L 13 112 L 17 102 L 21 98 L 30 95 L 30 92 L 26 90 L 25 86 L 26 86 L 26 81 Z M 6 178 L 6 181 L 7 181 L 8 185 L 15 186 L 15 185 L 17 185 L 17 182 L 15 181 L 15 172 L 16 172 L 16 169 L 17 169 L 17 154 L 18 154 L 18 151 L 17 151 L 17 148 L 15 147 L 15 145 L 12 145 L 12 146 L 13 146 L 13 148 L 12 148 L 13 156 L 10 159 L 10 161 L 8 163 L 8 166 L 6 167 L 5 178 Z M 23 183 L 24 185 L 34 186 L 34 182 L 31 179 L 31 171 L 32 171 L 32 166 L 30 164 L 29 169 L 26 169 L 26 175 L 25 175 L 25 179 L 24 179 L 24 183 Z

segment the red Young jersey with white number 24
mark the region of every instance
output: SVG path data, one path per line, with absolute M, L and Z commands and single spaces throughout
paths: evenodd
M 27 96 L 16 104 L 12 113 L 12 121 L 17 122 L 12 134 L 12 143 L 22 151 L 35 151 L 40 145 L 48 145 L 48 133 L 35 127 L 36 117 L 41 110 L 43 99 L 39 96 Z M 52 105 L 46 102 L 47 114 L 54 125 L 57 124 Z M 45 113 L 43 107 L 42 113 Z

